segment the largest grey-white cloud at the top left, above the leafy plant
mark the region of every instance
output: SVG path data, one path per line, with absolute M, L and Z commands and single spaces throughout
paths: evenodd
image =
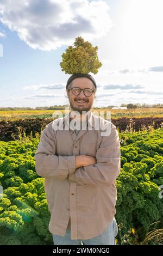
M 109 5 L 87 0 L 1 0 L 0 21 L 30 47 L 53 50 L 85 40 L 101 38 L 112 27 Z

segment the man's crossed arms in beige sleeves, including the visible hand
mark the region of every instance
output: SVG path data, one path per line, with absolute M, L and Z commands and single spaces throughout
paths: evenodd
M 110 186 L 120 174 L 120 141 L 115 126 L 102 137 L 96 157 L 87 155 L 58 156 L 55 138 L 48 126 L 43 130 L 35 153 L 36 173 L 42 177 L 69 179 L 81 185 Z

